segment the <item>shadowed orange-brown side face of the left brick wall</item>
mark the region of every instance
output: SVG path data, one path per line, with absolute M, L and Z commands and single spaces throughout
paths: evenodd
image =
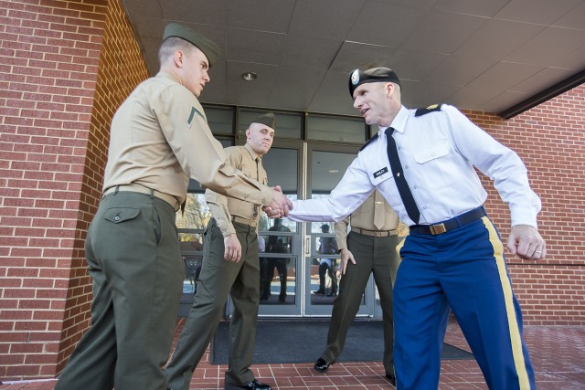
M 58 372 L 90 326 L 91 284 L 87 276 L 84 241 L 101 198 L 103 171 L 110 142 L 110 123 L 114 112 L 138 83 L 148 77 L 140 47 L 119 0 L 110 1 L 103 32 L 101 59 L 90 118 L 90 133 L 83 183 L 81 184 L 79 240 L 71 261 L 69 295 L 65 321 L 58 348 Z

